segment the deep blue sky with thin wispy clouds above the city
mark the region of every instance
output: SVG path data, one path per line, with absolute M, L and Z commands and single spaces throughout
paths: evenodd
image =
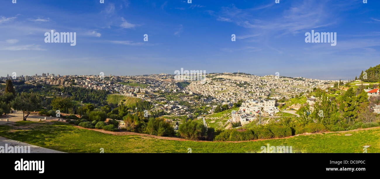
M 380 64 L 378 0 L 0 3 L 0 76 L 174 74 L 184 68 L 348 79 Z M 50 30 L 76 32 L 76 46 L 45 43 Z M 311 30 L 336 32 L 337 45 L 306 43 Z

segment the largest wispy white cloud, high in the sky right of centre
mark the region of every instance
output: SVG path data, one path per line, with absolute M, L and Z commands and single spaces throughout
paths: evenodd
M 255 16 L 257 11 L 270 6 L 272 5 L 240 9 L 231 5 L 229 7 L 222 7 L 218 13 L 212 12 L 209 14 L 217 17 L 218 21 L 232 22 L 244 28 L 260 31 L 277 31 L 276 34 L 279 35 L 300 33 L 302 30 L 326 27 L 336 23 L 331 18 L 334 17 L 333 14 L 326 11 L 329 6 L 328 1 L 306 0 L 298 2 L 290 8 L 283 10 L 283 16 L 260 16 L 261 18 Z M 311 11 L 310 9 L 314 10 Z

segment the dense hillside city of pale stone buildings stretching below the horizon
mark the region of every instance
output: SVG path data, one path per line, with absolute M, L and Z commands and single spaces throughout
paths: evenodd
M 51 86 L 71 86 L 93 90 L 105 90 L 111 94 L 136 97 L 153 102 L 155 109 L 164 110 L 169 115 L 192 115 L 196 105 L 209 109 L 202 114 L 214 113 L 217 104 L 233 106 L 239 100 L 289 99 L 313 88 L 326 88 L 334 80 L 307 79 L 304 77 L 282 77 L 274 75 L 257 76 L 244 73 L 207 74 L 204 80 L 176 80 L 170 74 L 135 76 L 101 75 L 55 75 L 49 73 L 33 76 L 0 77 L 21 80 L 25 84 Z M 163 94 L 163 95 L 162 95 Z M 169 94 L 181 94 L 178 99 L 168 99 Z M 183 95 L 182 95 L 183 94 Z M 59 96 L 59 94 L 57 94 Z M 179 104 L 180 103 L 180 104 Z M 181 104 L 187 105 L 181 105 Z M 256 105 L 260 106 L 260 105 Z M 258 110 L 256 110 L 258 111 Z M 274 115 L 278 110 L 265 109 L 263 115 Z

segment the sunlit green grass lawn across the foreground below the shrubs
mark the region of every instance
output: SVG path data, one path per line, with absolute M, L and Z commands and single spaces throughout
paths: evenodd
M 0 136 L 63 152 L 261 152 L 261 146 L 292 146 L 293 152 L 368 153 L 380 152 L 380 128 L 345 133 L 302 135 L 286 139 L 249 142 L 195 142 L 163 140 L 137 135 L 111 135 L 79 129 L 65 122 L 16 122 L 0 126 Z

